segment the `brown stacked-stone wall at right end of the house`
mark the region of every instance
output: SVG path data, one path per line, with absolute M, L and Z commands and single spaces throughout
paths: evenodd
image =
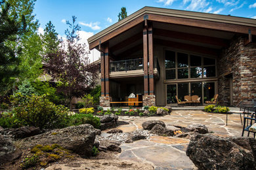
M 234 37 L 217 60 L 219 103 L 230 101 L 232 78 L 233 105 L 256 98 L 256 43 L 244 46 L 244 37 Z

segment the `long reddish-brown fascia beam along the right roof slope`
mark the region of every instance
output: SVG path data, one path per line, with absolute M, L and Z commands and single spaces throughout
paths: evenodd
M 159 14 L 148 14 L 148 20 L 244 34 L 247 34 L 248 29 L 251 29 L 251 33 L 253 35 L 256 35 L 256 27 L 250 27 L 245 25 L 228 24 L 223 22 L 214 22 L 206 20 L 196 20 L 190 18 L 180 18 L 175 16 L 163 16 Z

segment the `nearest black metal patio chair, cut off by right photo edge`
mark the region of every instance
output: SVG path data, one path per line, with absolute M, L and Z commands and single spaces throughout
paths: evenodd
M 249 133 L 253 133 L 253 137 L 255 138 L 256 133 L 256 111 L 252 114 L 249 114 L 248 117 L 244 117 L 244 127 L 242 131 L 242 137 L 244 136 L 244 131 L 248 131 L 247 137 L 249 137 Z

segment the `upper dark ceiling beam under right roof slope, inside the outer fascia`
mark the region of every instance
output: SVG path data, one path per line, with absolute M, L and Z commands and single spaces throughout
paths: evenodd
M 182 39 L 185 41 L 201 42 L 204 44 L 211 44 L 216 46 L 228 47 L 229 45 L 229 42 L 226 39 L 219 39 L 216 37 L 209 37 L 205 35 L 196 35 L 192 33 L 182 33 L 178 31 L 169 31 L 166 29 L 154 29 L 154 35 L 169 37 L 173 39 Z

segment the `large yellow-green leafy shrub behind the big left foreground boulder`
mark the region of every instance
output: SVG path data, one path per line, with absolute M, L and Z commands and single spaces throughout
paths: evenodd
M 70 121 L 68 108 L 54 105 L 46 95 L 22 95 L 17 93 L 10 97 L 14 106 L 14 116 L 28 126 L 40 129 L 66 127 Z

